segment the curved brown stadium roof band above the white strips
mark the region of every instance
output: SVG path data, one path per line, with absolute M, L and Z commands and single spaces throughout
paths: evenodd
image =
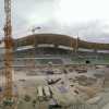
M 60 34 L 35 34 L 28 35 L 23 38 L 15 39 L 15 45 L 17 47 L 33 45 L 35 41 L 36 45 L 39 44 L 53 44 L 58 46 L 75 47 L 76 38 L 66 35 Z M 78 39 L 78 47 L 85 49 L 98 49 L 98 50 L 109 50 L 109 44 L 97 44 L 88 43 Z

